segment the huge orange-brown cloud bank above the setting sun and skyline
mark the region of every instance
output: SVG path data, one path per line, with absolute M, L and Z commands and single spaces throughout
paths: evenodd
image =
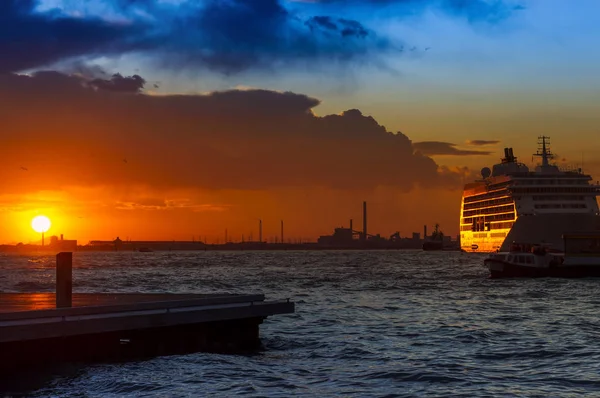
M 358 110 L 317 117 L 318 104 L 290 92 L 118 95 L 81 76 L 0 75 L 0 178 L 35 190 L 460 185 L 461 173 L 441 173 L 404 134 Z M 27 178 L 13 172 L 21 165 Z

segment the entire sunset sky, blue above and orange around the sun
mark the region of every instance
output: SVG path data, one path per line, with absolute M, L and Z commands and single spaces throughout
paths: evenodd
M 2 0 L 0 243 L 458 233 L 537 136 L 600 179 L 598 0 Z

